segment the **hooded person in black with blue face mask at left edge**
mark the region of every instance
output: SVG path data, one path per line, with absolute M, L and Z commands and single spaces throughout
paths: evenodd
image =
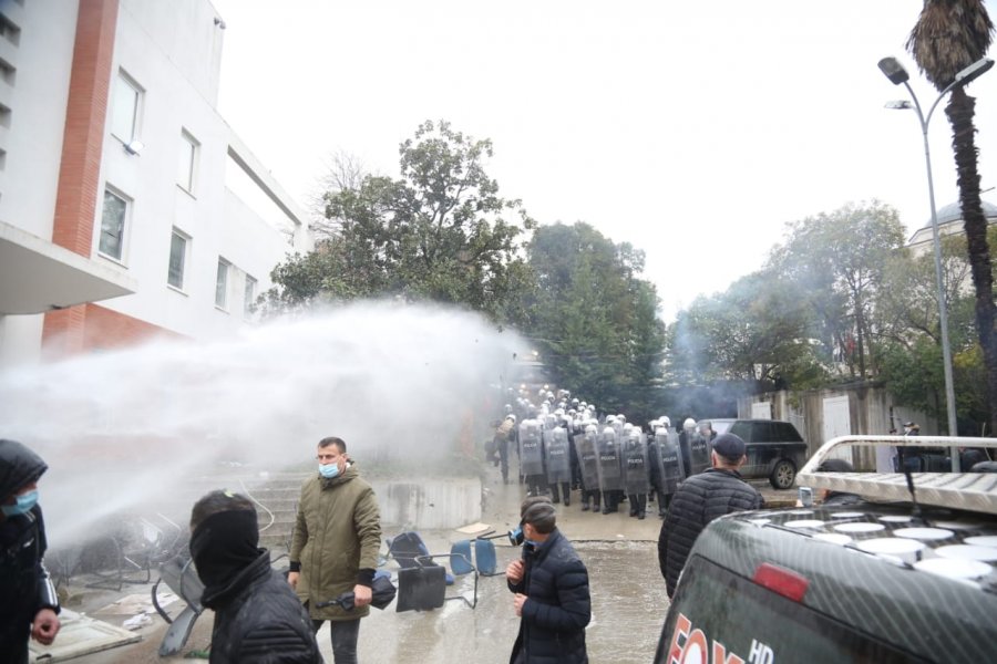
M 59 599 L 42 559 L 45 523 L 38 480 L 40 456 L 0 439 L 0 661 L 28 662 L 28 640 L 50 645 L 59 634 Z

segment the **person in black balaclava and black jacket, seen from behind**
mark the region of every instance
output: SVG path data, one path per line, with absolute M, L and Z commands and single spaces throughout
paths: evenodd
M 191 530 L 201 603 L 215 611 L 212 664 L 320 664 L 311 619 L 257 547 L 253 502 L 212 491 L 194 505 Z

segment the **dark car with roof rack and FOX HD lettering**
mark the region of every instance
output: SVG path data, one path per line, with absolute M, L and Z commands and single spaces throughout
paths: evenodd
M 918 474 L 915 502 L 902 474 L 814 473 L 853 443 L 832 440 L 799 478 L 852 502 L 736 512 L 703 529 L 656 663 L 997 661 L 997 481 Z

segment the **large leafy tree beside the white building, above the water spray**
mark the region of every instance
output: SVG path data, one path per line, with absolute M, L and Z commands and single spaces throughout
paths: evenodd
M 399 155 L 398 179 L 364 175 L 323 196 L 325 237 L 274 270 L 269 310 L 392 297 L 515 321 L 531 282 L 521 236 L 535 224 L 489 177 L 491 141 L 428 121 Z

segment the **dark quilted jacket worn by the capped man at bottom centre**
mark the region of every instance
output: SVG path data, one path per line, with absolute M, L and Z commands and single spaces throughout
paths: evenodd
M 585 627 L 592 620 L 588 570 L 555 529 L 535 551 L 523 550 L 525 573 L 512 592 L 525 594 L 520 634 L 510 662 L 523 651 L 526 664 L 587 664 Z

